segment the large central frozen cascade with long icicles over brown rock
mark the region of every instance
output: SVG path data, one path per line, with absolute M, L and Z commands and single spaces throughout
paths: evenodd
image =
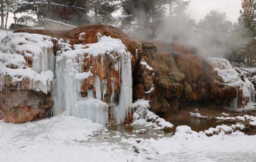
M 98 34 L 99 35 L 99 34 Z M 86 47 L 86 48 L 85 48 Z M 126 47 L 119 39 L 114 39 L 107 36 L 99 36 L 98 43 L 75 45 L 74 50 L 62 52 L 56 58 L 56 83 L 54 88 L 54 113 L 58 114 L 66 111 L 69 115 L 74 115 L 80 118 L 88 118 L 94 122 L 103 125 L 108 122 L 108 105 L 104 100 L 107 93 L 107 80 L 100 80 L 96 73 L 94 76 L 91 69 L 83 72 L 83 60 L 94 57 L 95 63 L 98 65 L 98 56 L 101 55 L 101 66 L 103 59 L 108 57 L 116 60 L 116 71 L 121 75 L 121 92 L 119 94 L 119 102 L 114 108 L 115 120 L 117 124 L 124 122 L 125 118 L 131 111 L 132 103 L 132 67 L 131 56 L 126 51 Z M 110 52 L 116 52 L 121 59 L 114 57 Z M 84 54 L 88 54 L 85 56 Z M 91 67 L 92 68 L 92 67 Z M 82 97 L 80 94 L 81 85 L 84 80 L 89 77 L 94 78 L 94 88 L 87 91 L 88 96 Z M 111 87 L 114 88 L 114 80 L 111 82 Z M 111 97 L 111 102 L 114 102 L 114 94 Z

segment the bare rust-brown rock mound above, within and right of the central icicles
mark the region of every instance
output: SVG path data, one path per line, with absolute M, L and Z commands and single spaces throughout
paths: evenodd
M 150 100 L 152 111 L 157 115 L 168 116 L 171 113 L 178 113 L 180 106 L 187 102 L 223 101 L 237 96 L 237 89 L 224 85 L 222 78 L 213 71 L 213 67 L 205 58 L 198 55 L 197 49 L 192 47 L 162 41 L 130 40 L 121 30 L 108 25 L 87 25 L 67 31 L 22 29 L 16 32 L 39 33 L 69 39 L 71 45 L 96 43 L 97 33 L 119 38 L 132 54 L 133 100 Z M 79 40 L 80 33 L 85 33 L 83 40 Z M 101 81 L 107 82 L 107 92 L 102 100 L 110 103 L 110 96 L 113 93 L 111 83 L 114 82 L 115 98 L 118 98 L 120 93 L 121 80 L 119 71 L 115 70 L 116 62 L 106 54 L 86 58 L 87 56 L 88 54 L 85 54 L 83 71 L 91 70 L 94 76 L 82 83 L 81 94 L 87 96 L 89 89 L 93 89 L 95 93 L 94 77 L 98 75 Z M 148 63 L 153 71 L 142 66 L 141 61 Z M 151 87 L 154 87 L 154 91 L 145 93 Z M 111 111 L 109 120 L 114 120 Z

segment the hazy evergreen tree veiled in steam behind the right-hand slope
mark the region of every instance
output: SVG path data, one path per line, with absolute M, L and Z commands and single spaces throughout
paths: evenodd
M 210 11 L 198 22 L 198 35 L 201 48 L 208 56 L 224 57 L 233 49 L 235 38 L 231 21 L 226 14 Z

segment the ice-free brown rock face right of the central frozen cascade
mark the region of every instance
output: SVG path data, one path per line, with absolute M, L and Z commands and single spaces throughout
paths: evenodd
M 153 82 L 155 91 L 146 99 L 151 101 L 152 111 L 158 115 L 167 117 L 178 113 L 180 107 L 190 102 L 236 98 L 236 88 L 223 84 L 222 78 L 206 59 L 197 54 L 196 49 L 159 41 L 143 42 L 141 49 L 140 59 L 152 67 L 154 77 L 151 74 L 147 77 L 136 74 L 133 97 L 139 99 L 141 92 L 136 90 L 143 87 L 141 89 L 145 88 L 145 93 Z M 140 66 L 136 69 L 143 71 L 140 74 L 148 73 L 148 69 Z

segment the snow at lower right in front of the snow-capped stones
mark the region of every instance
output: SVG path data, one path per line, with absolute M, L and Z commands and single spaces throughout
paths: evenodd
M 229 162 L 254 161 L 256 136 L 241 132 L 236 135 L 206 137 L 197 132 L 175 134 L 171 138 L 153 138 L 135 143 L 134 146 L 145 159 L 165 162 Z M 131 142 L 132 143 L 132 142 Z M 152 160 L 153 161 L 153 160 Z

